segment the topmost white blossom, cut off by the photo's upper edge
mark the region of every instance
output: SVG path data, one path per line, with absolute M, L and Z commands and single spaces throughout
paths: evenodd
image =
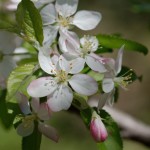
M 53 26 L 54 31 L 71 29 L 73 25 L 82 30 L 94 29 L 101 20 L 101 14 L 95 11 L 78 11 L 78 0 L 56 0 L 53 4 L 46 5 L 41 11 L 44 26 Z M 75 14 L 75 15 L 74 15 Z M 53 39 L 56 38 L 53 35 Z

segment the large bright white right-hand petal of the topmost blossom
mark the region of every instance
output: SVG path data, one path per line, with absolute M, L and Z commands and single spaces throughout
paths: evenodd
M 78 11 L 73 19 L 73 24 L 82 30 L 94 29 L 101 20 L 101 14 L 95 11 Z

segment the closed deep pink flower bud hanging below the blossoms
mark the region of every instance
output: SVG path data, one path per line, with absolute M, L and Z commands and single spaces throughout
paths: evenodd
M 101 121 L 100 116 L 95 111 L 92 114 L 90 132 L 96 142 L 103 142 L 108 136 L 107 130 Z

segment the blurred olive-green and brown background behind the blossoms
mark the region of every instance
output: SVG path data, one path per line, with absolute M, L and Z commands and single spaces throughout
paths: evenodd
M 1 1 L 0 1 L 1 2 Z M 102 13 L 102 21 L 99 26 L 88 34 L 120 34 L 122 37 L 144 44 L 150 49 L 150 13 L 142 12 L 133 7 L 140 0 L 79 0 L 79 9 L 96 10 Z M 143 0 L 142 2 L 149 2 Z M 147 5 L 148 6 L 148 5 Z M 2 2 L 0 9 L 2 10 Z M 135 8 L 135 9 L 133 9 Z M 150 9 L 149 9 L 150 12 Z M 79 34 L 83 34 L 76 29 Z M 9 41 L 0 39 L 6 44 Z M 86 33 L 87 34 L 87 33 Z M 112 57 L 116 56 L 114 52 Z M 138 75 L 143 75 L 143 81 L 134 82 L 128 91 L 120 89 L 119 101 L 114 107 L 129 113 L 133 117 L 150 124 L 150 54 L 125 51 L 123 64 L 130 66 Z M 122 120 L 125 121 L 125 120 Z M 43 137 L 41 150 L 97 150 L 82 120 L 74 113 L 59 112 L 53 115 L 53 124 L 60 133 L 58 144 Z M 5 131 L 0 127 L 0 150 L 21 150 L 21 138 L 14 129 Z M 124 140 L 124 150 L 150 150 L 144 145 Z

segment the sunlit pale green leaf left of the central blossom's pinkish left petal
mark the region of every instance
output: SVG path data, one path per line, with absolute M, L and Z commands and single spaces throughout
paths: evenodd
M 15 68 L 7 81 L 7 101 L 16 102 L 16 93 L 19 91 L 27 96 L 26 89 L 31 80 L 35 79 L 32 74 L 38 69 L 38 66 L 26 64 Z

